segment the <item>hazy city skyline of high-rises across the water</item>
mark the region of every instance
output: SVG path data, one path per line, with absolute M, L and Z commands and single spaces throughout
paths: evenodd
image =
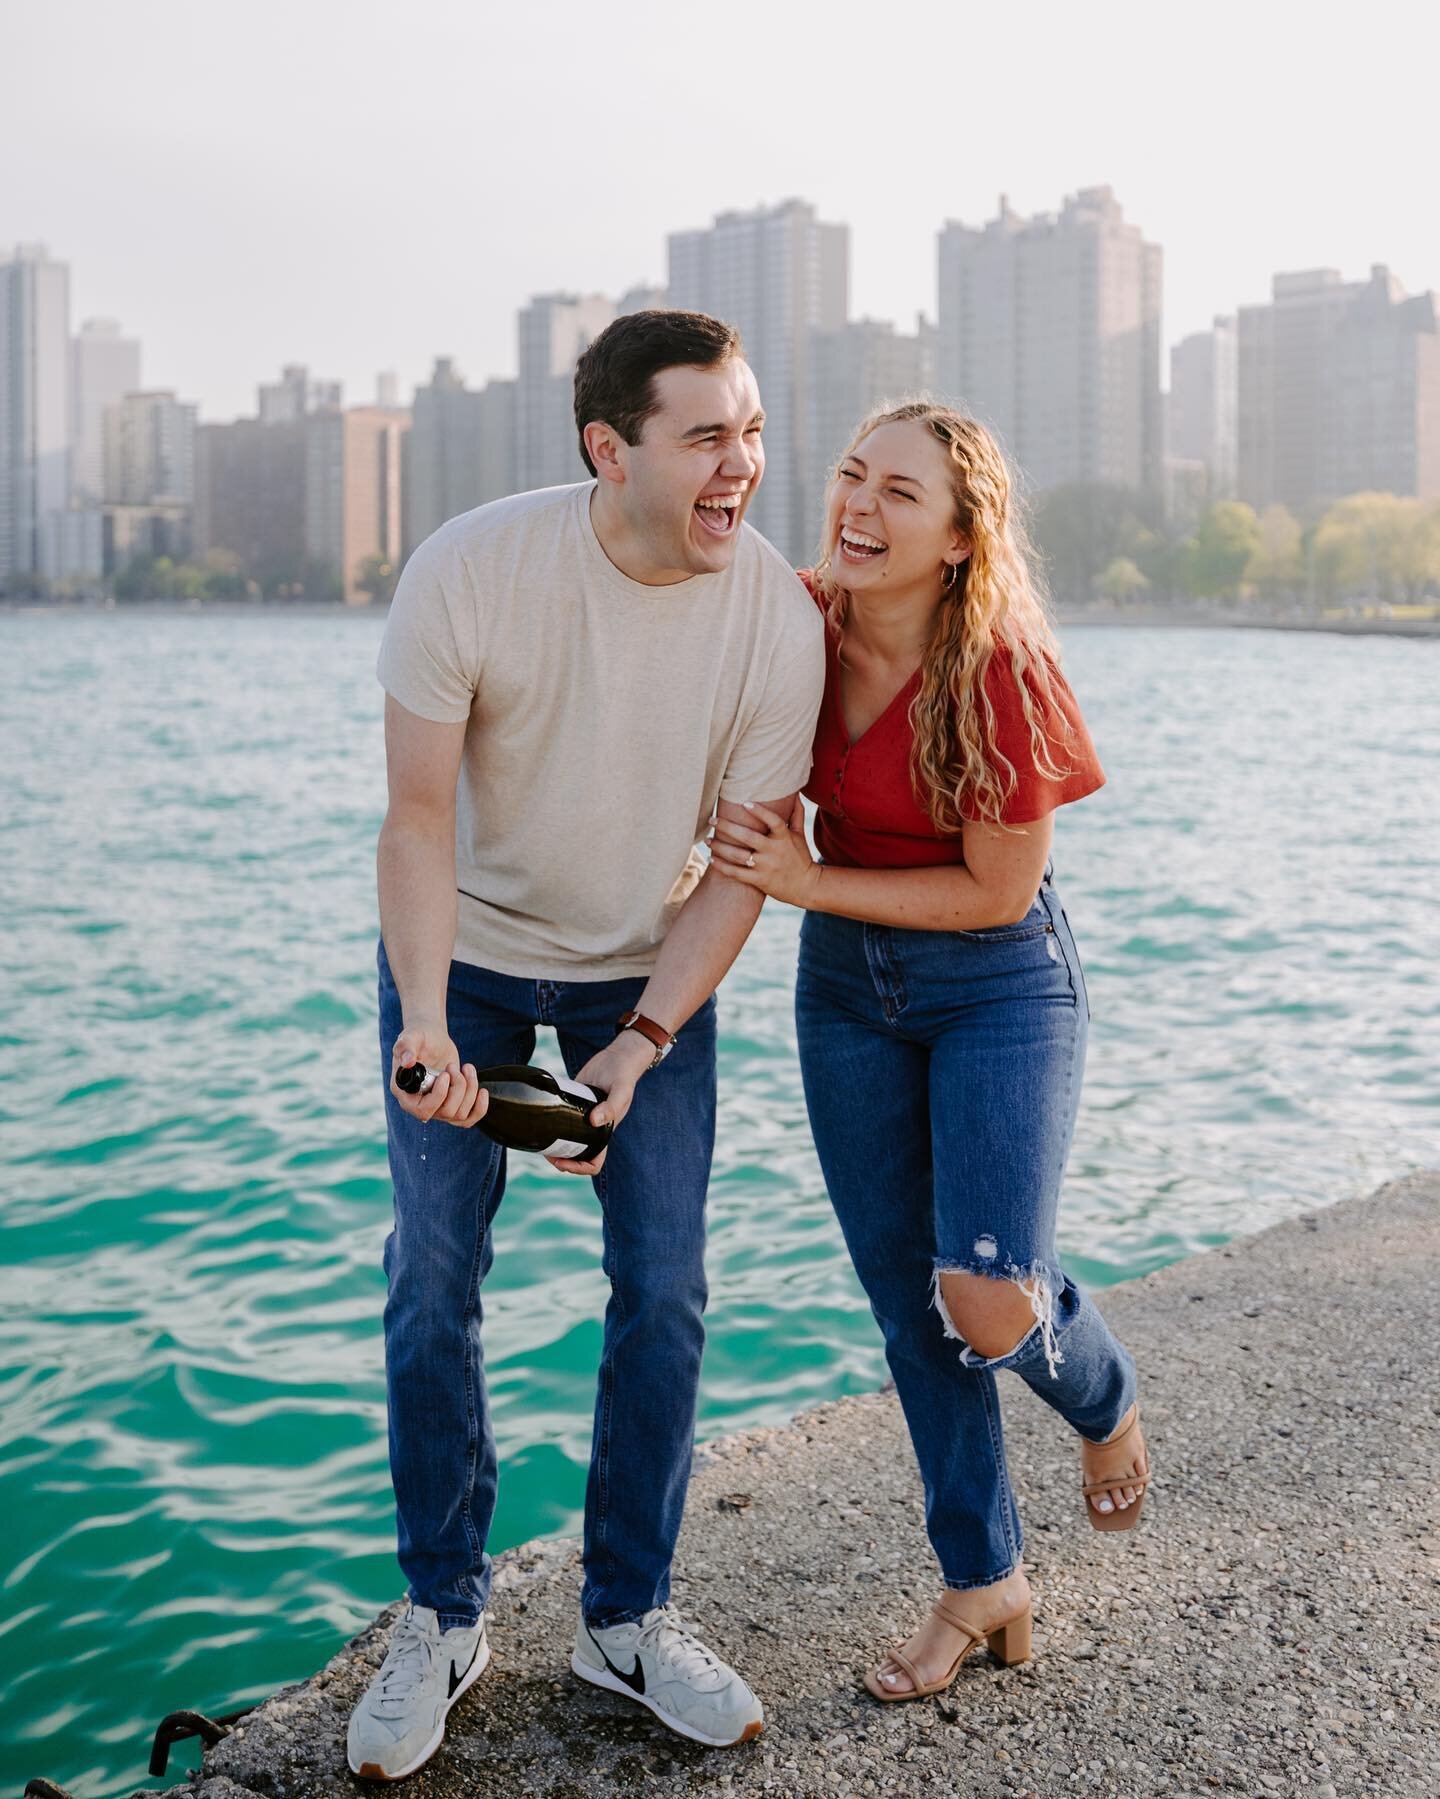
M 468 389 L 437 356 L 409 407 L 394 372 L 346 407 L 342 381 L 288 363 L 252 416 L 202 423 L 173 390 L 126 390 L 139 340 L 110 320 L 76 333 L 68 263 L 22 245 L 0 255 L 0 576 L 198 556 L 227 585 L 369 601 L 452 513 L 583 479 L 576 358 L 664 304 L 740 329 L 767 403 L 752 524 L 792 559 L 853 421 L 927 389 L 995 432 L 1026 497 L 1129 493 L 1174 527 L 1237 495 L 1282 507 L 1276 541 L 1346 493 L 1440 497 L 1440 297 L 1384 264 L 1357 282 L 1276 272 L 1269 302 L 1172 349 L 1166 405 L 1165 248 L 1111 187 L 1033 218 L 1001 196 L 983 227 L 947 225 L 938 317 L 911 335 L 850 315 L 850 227 L 805 200 L 722 212 L 666 248 L 664 290 L 533 295 L 515 380 Z

